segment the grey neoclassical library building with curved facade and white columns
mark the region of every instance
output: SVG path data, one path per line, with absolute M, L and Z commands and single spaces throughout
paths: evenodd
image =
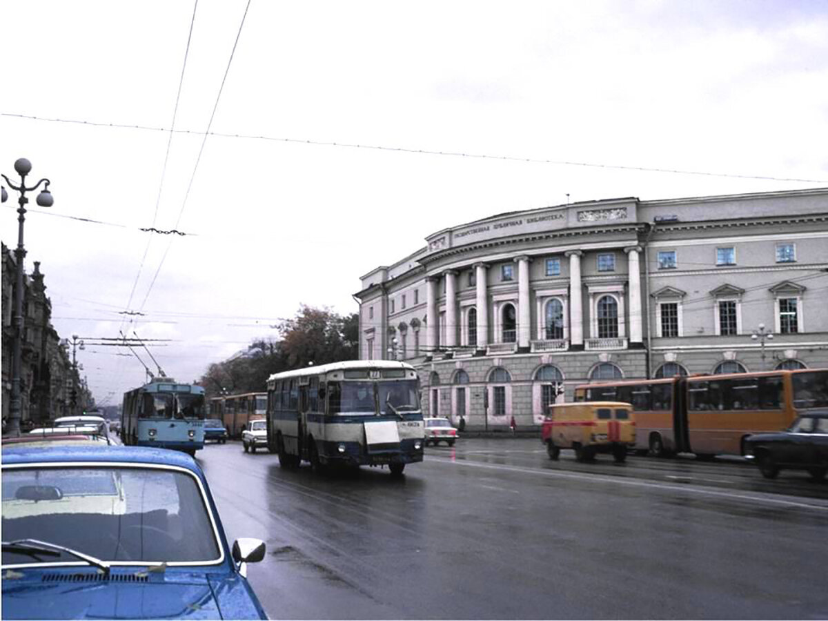
M 580 202 L 426 243 L 362 277 L 360 358 L 413 363 L 426 411 L 471 428 L 536 426 L 602 379 L 828 367 L 828 188 Z

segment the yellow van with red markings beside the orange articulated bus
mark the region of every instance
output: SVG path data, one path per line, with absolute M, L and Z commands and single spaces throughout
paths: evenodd
M 627 459 L 635 445 L 633 406 L 615 401 L 560 403 L 549 407 L 541 440 L 549 459 L 561 449 L 574 449 L 578 461 L 591 461 L 595 453 L 612 453 L 615 461 Z

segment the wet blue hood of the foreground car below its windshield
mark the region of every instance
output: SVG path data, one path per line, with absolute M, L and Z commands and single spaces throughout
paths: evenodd
M 77 576 L 89 576 L 79 580 Z M 149 575 L 133 583 L 134 573 L 113 579 L 65 570 L 7 570 L 2 574 L 3 619 L 243 619 L 258 618 L 251 605 L 239 609 L 242 580 L 208 580 L 204 574 Z M 212 583 L 212 584 L 211 584 Z M 219 595 L 219 600 L 216 599 Z M 247 608 L 247 610 L 245 610 Z

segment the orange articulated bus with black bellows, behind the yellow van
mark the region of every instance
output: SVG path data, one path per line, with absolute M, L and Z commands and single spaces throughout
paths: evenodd
M 575 401 L 633 404 L 635 448 L 651 455 L 744 455 L 744 439 L 828 407 L 828 369 L 698 375 L 584 384 Z

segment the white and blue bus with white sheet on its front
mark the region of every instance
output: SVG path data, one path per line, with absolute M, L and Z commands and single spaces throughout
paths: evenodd
M 420 381 L 410 364 L 350 360 L 267 379 L 267 448 L 279 463 L 388 465 L 422 461 Z

